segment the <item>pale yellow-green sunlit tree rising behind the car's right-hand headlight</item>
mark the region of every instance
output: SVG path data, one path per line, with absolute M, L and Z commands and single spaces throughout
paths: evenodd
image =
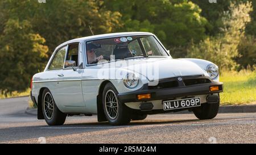
M 220 68 L 234 69 L 238 56 L 238 45 L 245 36 L 246 24 L 250 22 L 249 13 L 253 10 L 250 2 L 231 3 L 230 11 L 222 17 L 224 27 L 216 37 L 208 37 L 198 45 L 192 45 L 188 57 L 203 58 L 216 63 Z

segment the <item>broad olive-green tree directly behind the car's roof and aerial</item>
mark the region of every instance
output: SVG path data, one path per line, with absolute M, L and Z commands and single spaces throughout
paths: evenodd
M 119 12 L 101 9 L 100 1 L 48 1 L 45 4 L 36 4 L 31 23 L 35 32 L 46 40 L 50 52 L 64 41 L 77 37 L 90 36 L 89 26 L 94 34 L 114 32 L 120 27 Z

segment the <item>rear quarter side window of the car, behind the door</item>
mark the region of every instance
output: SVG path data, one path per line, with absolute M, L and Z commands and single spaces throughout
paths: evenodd
M 59 51 L 57 51 L 57 53 L 55 54 L 51 65 L 49 66 L 49 70 L 63 69 L 65 54 L 66 54 L 66 47 L 59 49 Z

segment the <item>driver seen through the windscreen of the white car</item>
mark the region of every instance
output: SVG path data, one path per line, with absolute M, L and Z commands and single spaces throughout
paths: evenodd
M 87 53 L 87 60 L 88 60 L 88 64 L 93 64 L 93 62 L 97 62 L 102 60 L 104 57 L 102 55 L 100 56 L 96 56 L 95 54 L 95 49 L 97 48 L 96 45 L 90 43 L 86 45 L 86 53 Z

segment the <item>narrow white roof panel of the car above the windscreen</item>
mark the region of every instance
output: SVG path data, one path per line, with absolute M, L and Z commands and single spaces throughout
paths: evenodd
M 149 33 L 149 32 L 120 32 L 120 33 L 107 33 L 107 34 L 102 34 L 102 35 L 86 36 L 86 37 L 80 37 L 77 39 L 72 39 L 72 40 L 66 41 L 65 43 L 62 43 L 58 47 L 56 47 L 56 49 L 62 47 L 65 44 L 69 44 L 69 43 L 74 43 L 74 42 L 79 42 L 79 41 L 84 41 L 84 40 L 101 39 L 104 37 L 126 36 L 126 35 L 153 35 L 153 34 Z

